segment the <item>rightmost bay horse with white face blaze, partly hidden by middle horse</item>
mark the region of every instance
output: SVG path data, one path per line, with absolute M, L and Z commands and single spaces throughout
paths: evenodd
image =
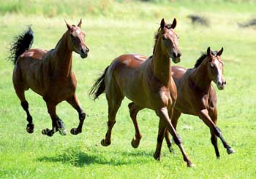
M 223 76 L 223 61 L 221 55 L 222 49 L 211 51 L 208 47 L 207 53 L 203 53 L 195 63 L 195 68 L 186 69 L 180 66 L 170 67 L 175 81 L 178 98 L 173 110 L 171 123 L 176 129 L 177 122 L 181 113 L 199 116 L 200 119 L 210 128 L 211 143 L 214 146 L 217 158 L 219 158 L 219 149 L 217 146 L 217 137 L 222 140 L 227 154 L 233 154 L 235 151 L 231 148 L 222 136 L 221 130 L 217 127 L 217 95 L 211 81 L 217 84 L 219 90 L 224 90 L 226 81 Z M 132 117 L 132 121 L 136 116 Z M 137 121 L 134 122 L 136 135 L 141 135 Z M 169 133 L 165 132 L 165 140 L 170 152 L 173 151 L 170 142 Z M 138 146 L 136 146 L 138 147 Z

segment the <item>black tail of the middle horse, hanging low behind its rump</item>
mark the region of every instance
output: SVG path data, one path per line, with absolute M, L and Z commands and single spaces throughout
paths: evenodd
M 105 68 L 104 73 L 101 76 L 99 76 L 99 78 L 94 82 L 94 84 L 91 87 L 91 90 L 89 91 L 89 95 L 94 95 L 94 100 L 96 100 L 99 97 L 99 95 L 105 92 L 104 79 L 105 79 L 106 72 L 108 71 L 108 67 Z

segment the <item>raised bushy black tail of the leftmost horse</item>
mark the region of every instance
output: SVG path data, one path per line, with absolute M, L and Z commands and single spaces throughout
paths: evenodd
M 8 57 L 9 60 L 13 61 L 14 65 L 18 57 L 31 47 L 33 39 L 34 35 L 30 25 L 27 31 L 24 31 L 19 36 L 15 36 L 10 47 L 10 56 Z

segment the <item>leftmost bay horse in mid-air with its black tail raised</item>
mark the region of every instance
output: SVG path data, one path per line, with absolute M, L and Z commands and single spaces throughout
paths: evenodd
M 26 131 L 34 132 L 34 123 L 29 113 L 29 103 L 25 98 L 26 90 L 33 90 L 41 95 L 48 108 L 48 114 L 52 120 L 52 130 L 48 128 L 42 130 L 43 135 L 52 136 L 59 131 L 61 135 L 66 135 L 64 123 L 56 114 L 56 106 L 61 101 L 66 100 L 79 115 L 77 128 L 72 128 L 70 132 L 77 135 L 82 132 L 83 121 L 86 114 L 80 106 L 75 94 L 77 81 L 72 71 L 72 52 L 80 54 L 86 58 L 89 48 L 85 44 L 85 33 L 80 29 L 82 20 L 78 25 L 67 25 L 67 31 L 63 34 L 56 47 L 51 50 L 30 49 L 34 33 L 29 29 L 19 36 L 10 48 L 10 60 L 15 67 L 12 75 L 15 92 L 20 99 L 21 106 L 27 115 Z

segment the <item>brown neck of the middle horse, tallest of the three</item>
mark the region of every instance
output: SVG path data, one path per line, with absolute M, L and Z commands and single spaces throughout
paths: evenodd
M 171 78 L 170 57 L 162 52 L 160 39 L 157 40 L 151 66 L 154 76 L 167 87 Z

